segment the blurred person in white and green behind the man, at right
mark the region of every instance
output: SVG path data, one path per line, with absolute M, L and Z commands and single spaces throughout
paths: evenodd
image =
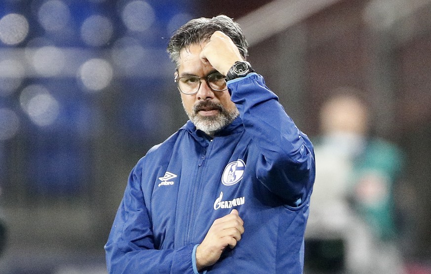
M 346 91 L 323 105 L 322 136 L 313 142 L 305 273 L 399 274 L 393 192 L 404 157 L 370 136 L 366 104 Z

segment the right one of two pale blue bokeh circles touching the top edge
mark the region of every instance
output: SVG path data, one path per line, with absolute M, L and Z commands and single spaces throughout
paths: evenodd
M 121 13 L 124 25 L 135 32 L 143 32 L 156 19 L 153 7 L 145 1 L 132 1 L 125 5 Z

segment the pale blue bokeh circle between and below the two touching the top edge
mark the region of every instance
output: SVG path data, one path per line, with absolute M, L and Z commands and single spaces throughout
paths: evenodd
M 101 15 L 92 15 L 81 26 L 81 38 L 90 46 L 107 44 L 114 33 L 111 21 Z

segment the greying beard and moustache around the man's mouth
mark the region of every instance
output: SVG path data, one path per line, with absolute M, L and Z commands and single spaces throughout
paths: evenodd
M 196 103 L 193 106 L 191 113 L 188 112 L 185 107 L 184 109 L 186 110 L 189 119 L 196 126 L 196 129 L 203 131 L 209 136 L 214 136 L 216 132 L 232 123 L 239 115 L 236 107 L 233 109 L 227 109 L 221 103 L 215 103 L 210 100 Z M 199 115 L 199 110 L 202 109 L 217 109 L 219 113 L 213 116 L 201 116 Z

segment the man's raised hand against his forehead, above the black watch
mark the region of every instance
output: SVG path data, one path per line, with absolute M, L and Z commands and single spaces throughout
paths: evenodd
M 232 39 L 220 31 L 211 35 L 200 52 L 200 59 L 223 75 L 228 73 L 236 61 L 244 61 Z

